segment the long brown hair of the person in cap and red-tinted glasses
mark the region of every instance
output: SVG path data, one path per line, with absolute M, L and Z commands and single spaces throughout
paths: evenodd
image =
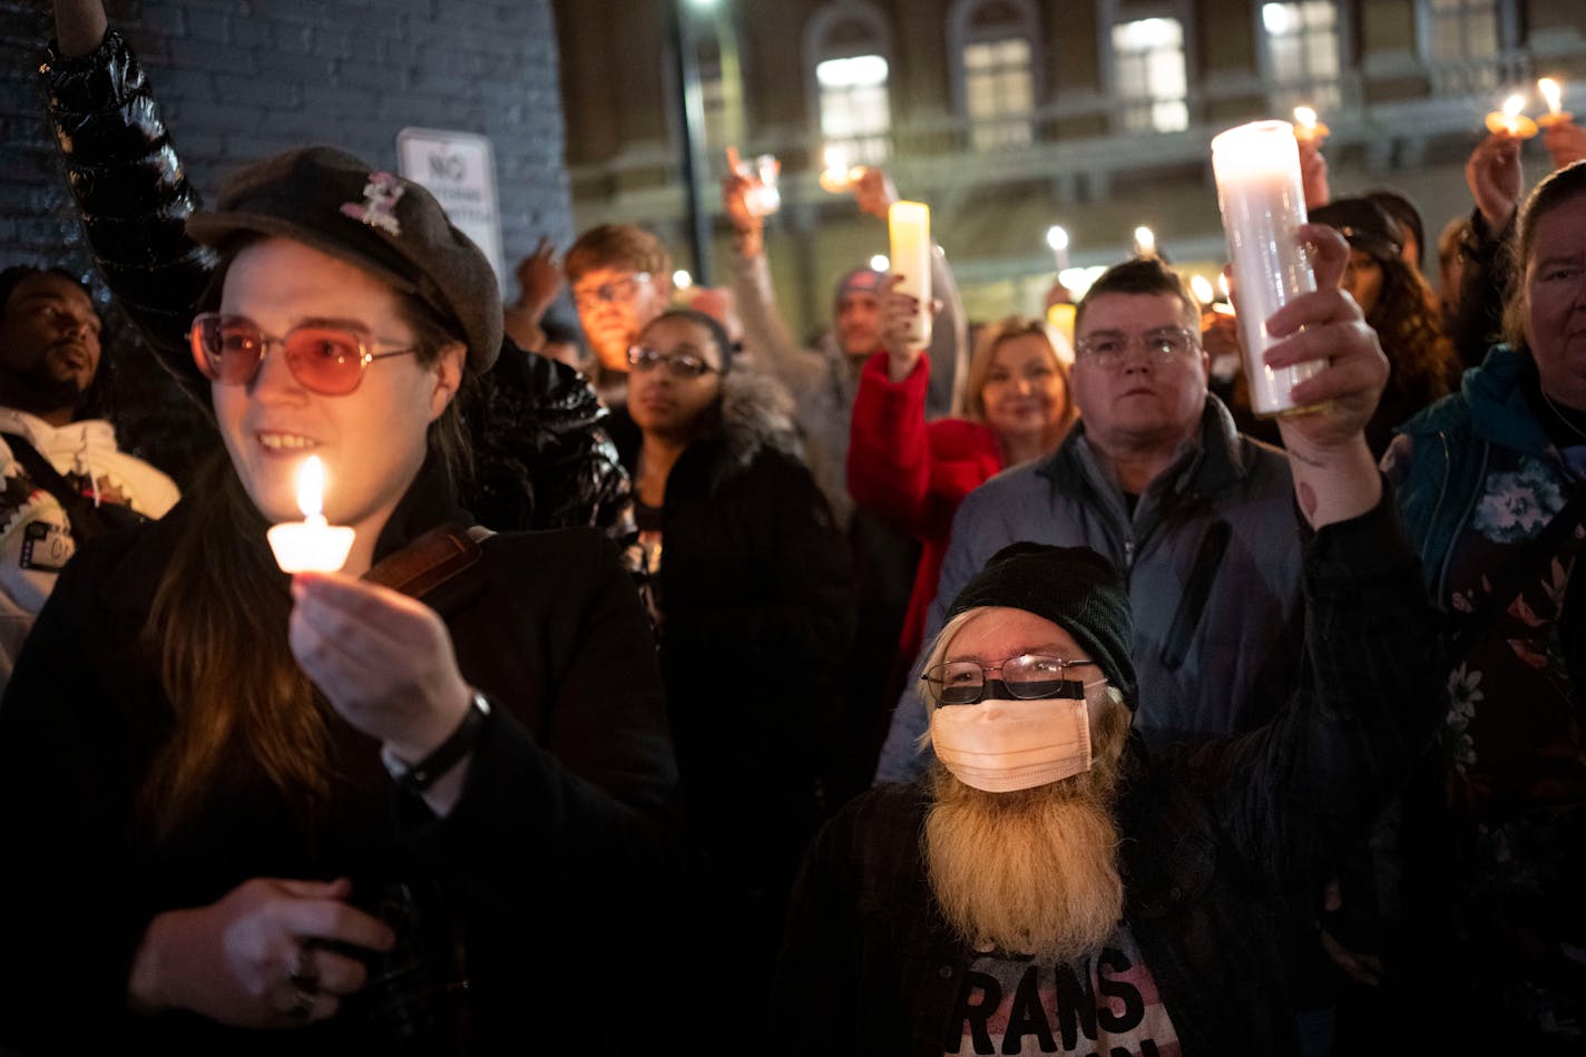
M 239 246 L 228 249 L 209 297 L 219 297 Z M 398 313 L 425 367 L 463 340 L 416 297 L 398 294 Z M 466 367 L 463 381 L 471 382 Z M 458 398 L 430 424 L 428 448 L 455 481 L 468 452 Z M 140 819 L 168 840 L 198 814 L 228 762 L 249 760 L 312 828 L 331 795 L 330 735 L 320 694 L 287 643 L 292 598 L 265 543 L 265 517 L 224 449 L 205 462 L 189 502 L 146 625 L 173 725 L 140 790 Z

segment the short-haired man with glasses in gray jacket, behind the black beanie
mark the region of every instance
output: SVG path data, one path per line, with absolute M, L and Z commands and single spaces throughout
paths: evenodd
M 1293 690 L 1301 554 L 1283 452 L 1243 436 L 1207 392 L 1199 306 L 1156 257 L 1110 268 L 1080 302 L 1080 422 L 1050 457 L 972 492 L 953 521 L 925 640 L 969 578 L 1021 540 L 1088 546 L 1123 571 L 1140 714 L 1153 748 L 1250 730 Z M 925 770 L 926 711 L 906 690 L 877 781 Z

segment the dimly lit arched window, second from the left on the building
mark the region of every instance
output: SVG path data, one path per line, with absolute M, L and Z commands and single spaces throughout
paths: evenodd
M 956 0 L 947 21 L 953 102 L 977 151 L 1029 146 L 1040 97 L 1029 0 Z

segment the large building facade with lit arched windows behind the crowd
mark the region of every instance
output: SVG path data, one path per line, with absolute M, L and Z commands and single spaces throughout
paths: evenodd
M 722 151 L 782 162 L 768 252 L 790 319 L 820 322 L 831 283 L 887 251 L 880 224 L 817 187 L 828 148 L 880 162 L 933 206 L 971 317 L 1039 311 L 1072 265 L 1126 256 L 1136 225 L 1212 270 L 1221 227 L 1212 136 L 1310 105 L 1331 127 L 1335 195 L 1407 192 L 1427 238 L 1470 208 L 1462 165 L 1535 78 L 1586 111 L 1578 0 L 679 0 L 699 71 L 714 283 L 728 238 Z M 557 0 L 568 167 L 579 227 L 631 221 L 690 263 L 674 30 L 665 5 Z M 1546 171 L 1540 143 L 1527 179 Z M 1429 254 L 1435 260 L 1435 256 Z M 1435 267 L 1435 265 L 1434 265 Z

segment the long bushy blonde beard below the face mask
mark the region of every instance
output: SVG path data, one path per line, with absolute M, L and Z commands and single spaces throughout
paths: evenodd
M 1113 933 L 1123 878 L 1112 803 L 1128 722 L 1121 706 L 1105 709 L 1091 770 L 1037 789 L 988 794 L 936 765 L 926 867 L 961 940 L 1072 962 Z

